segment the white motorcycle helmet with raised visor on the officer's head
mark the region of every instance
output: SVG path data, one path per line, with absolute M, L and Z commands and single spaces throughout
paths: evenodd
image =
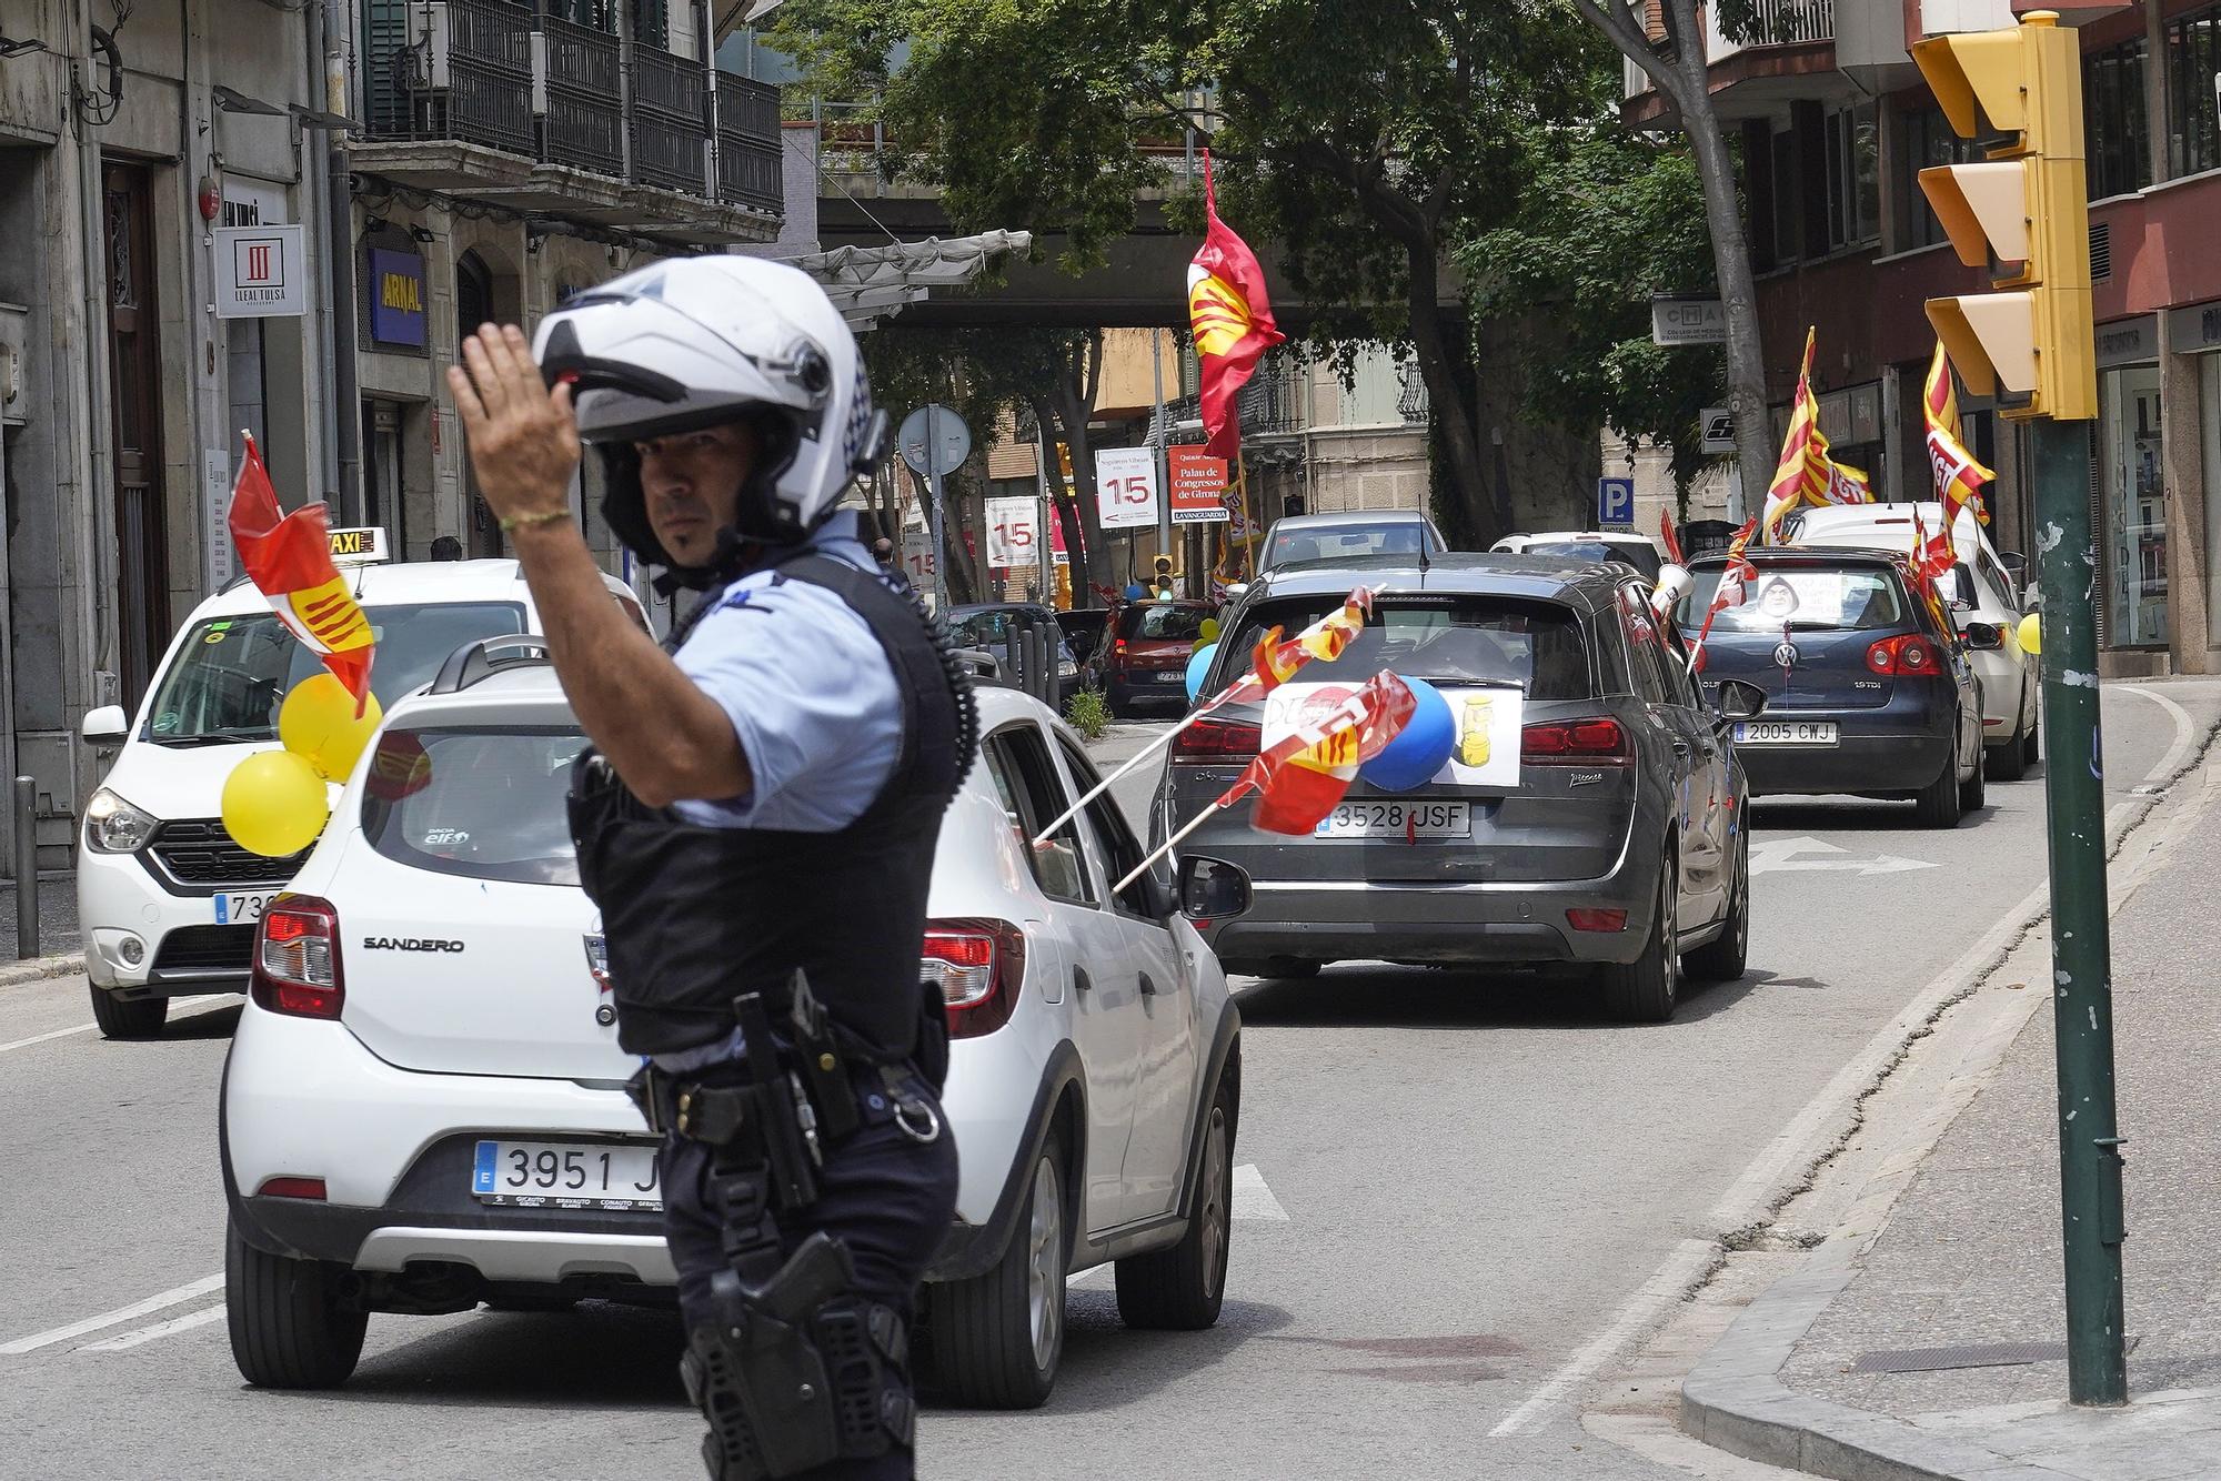
M 600 446 L 609 528 L 677 584 L 711 584 L 742 542 L 802 540 L 886 451 L 855 335 L 817 282 L 780 262 L 626 273 L 542 320 L 533 355 L 549 384 L 571 382 L 580 437 Z M 649 524 L 633 442 L 720 422 L 751 422 L 764 451 L 713 562 L 682 568 Z

